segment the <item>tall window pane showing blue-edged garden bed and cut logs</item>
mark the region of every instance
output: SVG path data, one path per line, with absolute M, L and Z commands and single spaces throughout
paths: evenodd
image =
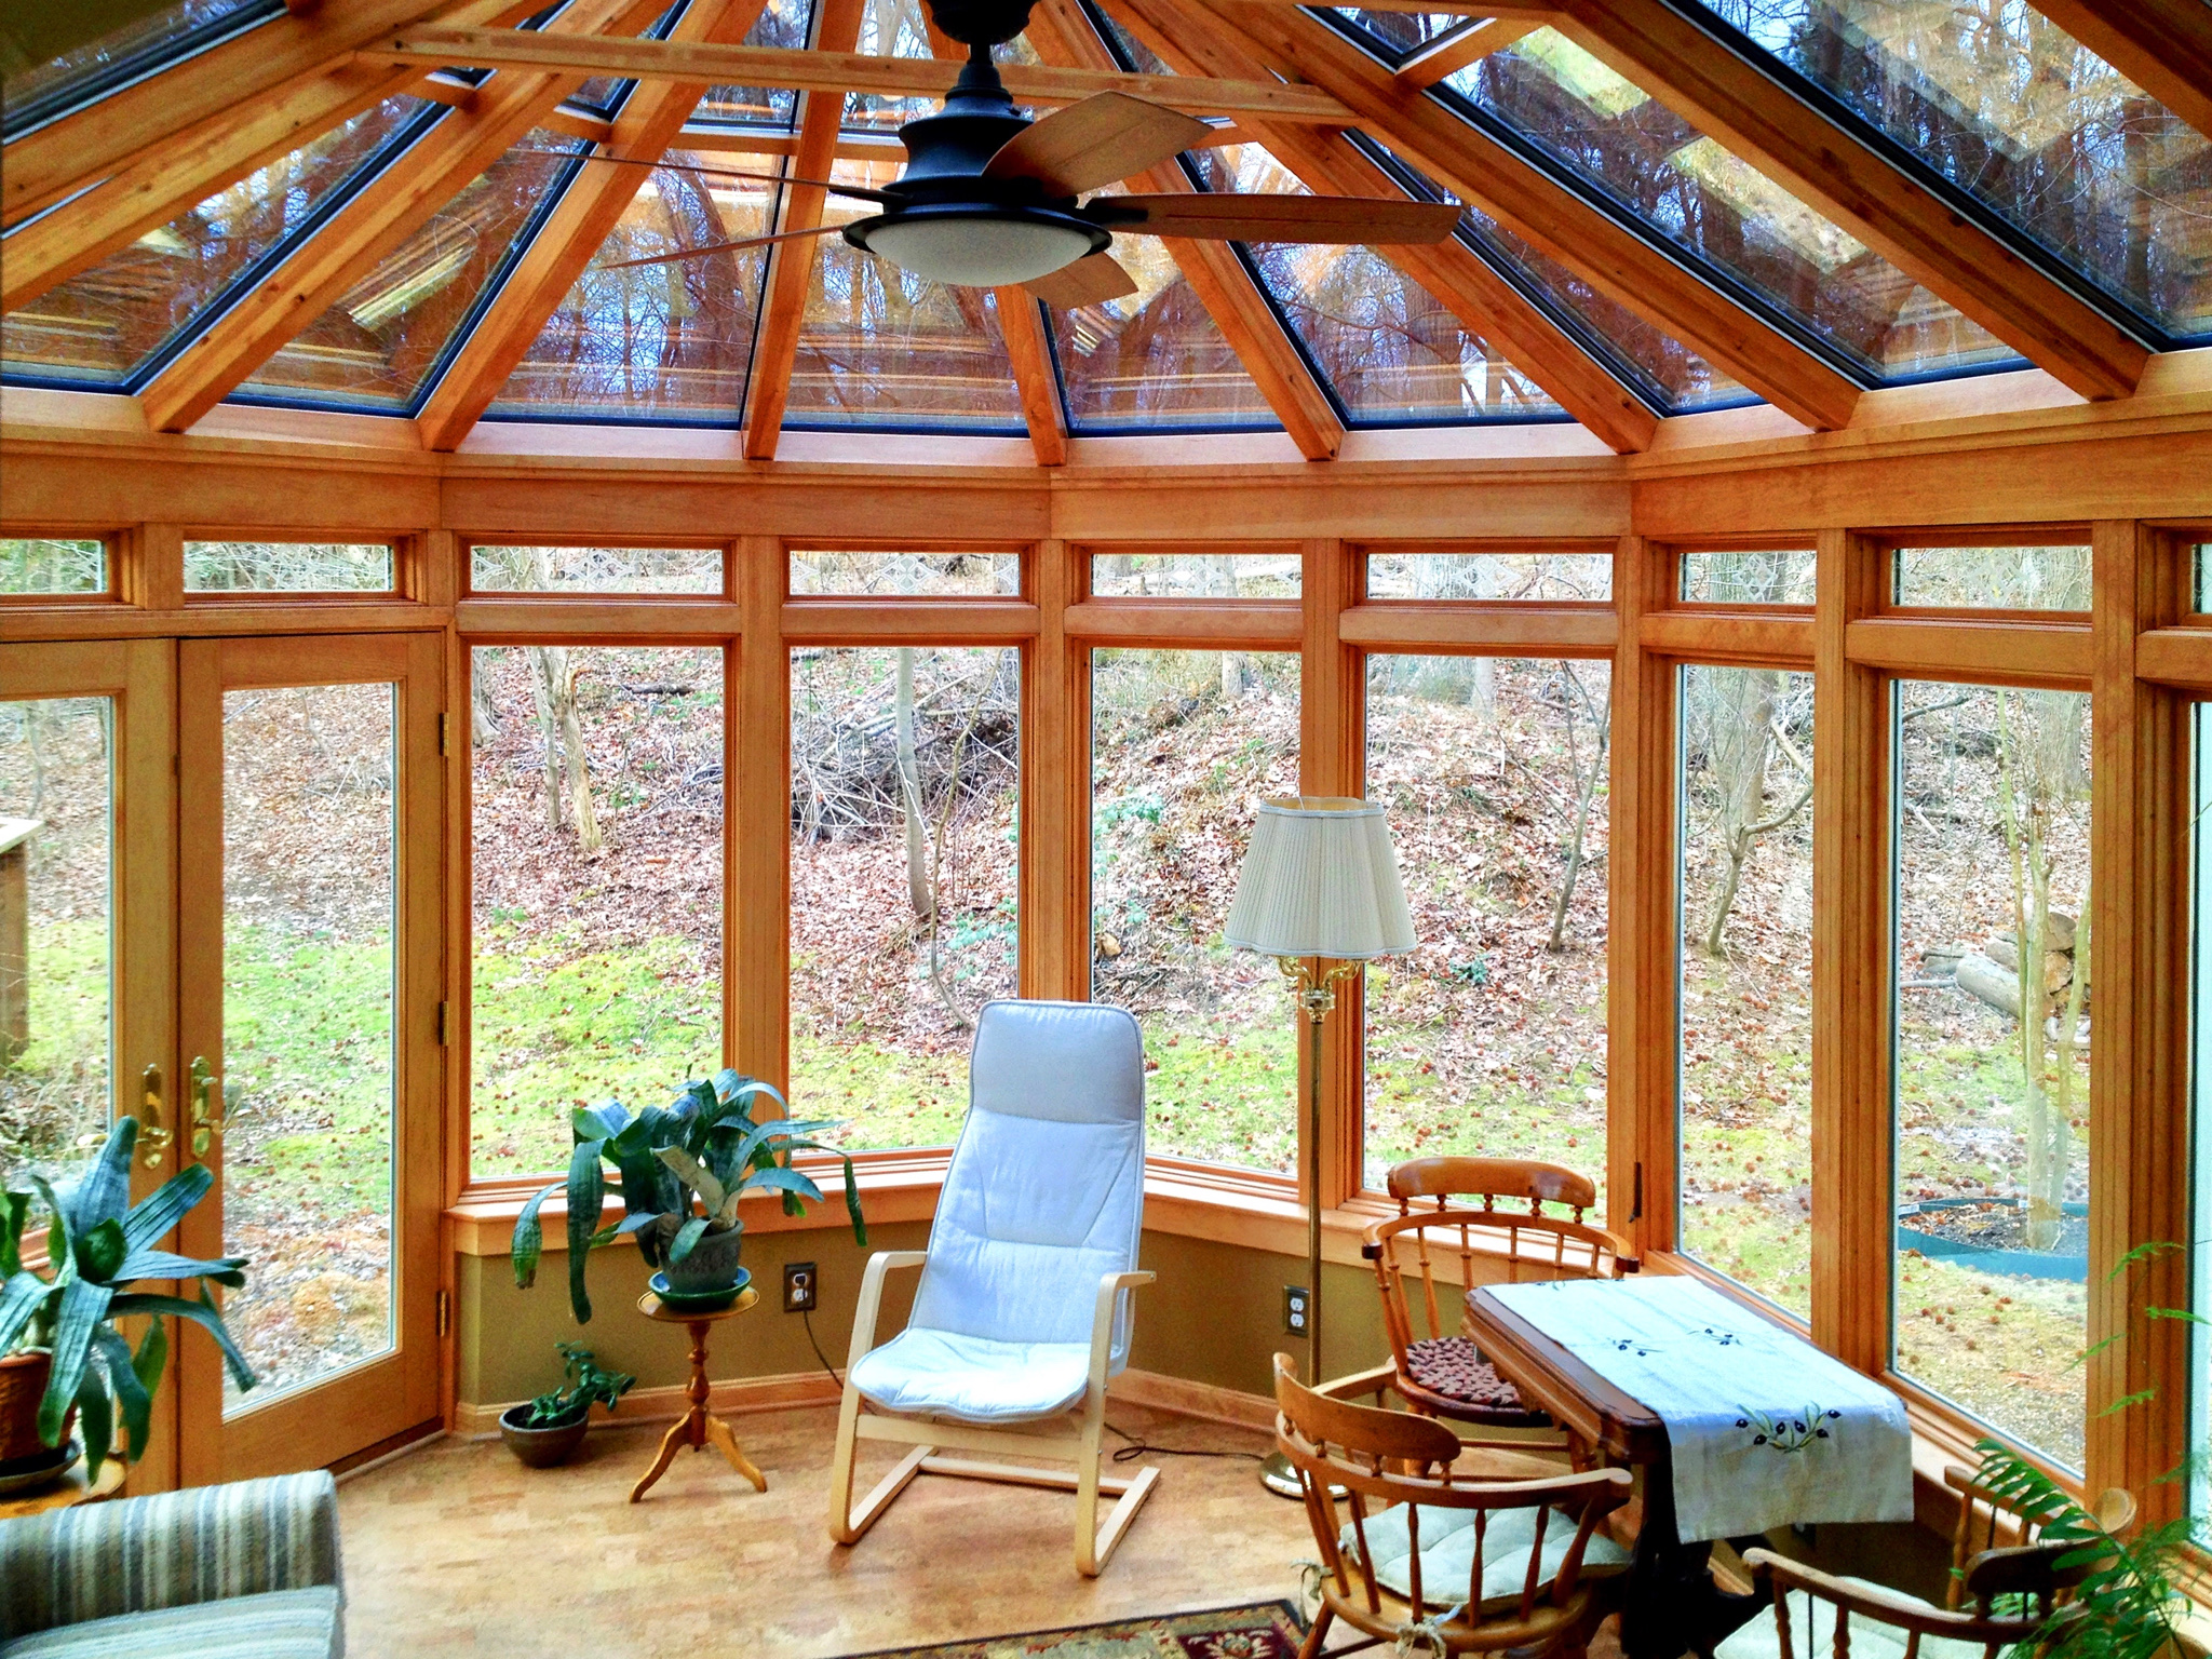
M 2090 701 L 1900 684 L 1896 732 L 1896 1367 L 2079 1469 Z

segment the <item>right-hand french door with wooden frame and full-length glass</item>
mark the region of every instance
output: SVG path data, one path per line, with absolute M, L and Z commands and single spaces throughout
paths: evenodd
M 177 648 L 175 1161 L 188 1256 L 246 1256 L 177 1343 L 177 1478 L 336 1462 L 438 1413 L 436 635 Z

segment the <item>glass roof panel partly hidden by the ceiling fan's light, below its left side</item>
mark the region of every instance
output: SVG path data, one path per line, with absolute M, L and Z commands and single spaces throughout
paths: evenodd
M 898 164 L 838 161 L 830 177 L 880 188 Z M 823 217 L 847 223 L 869 212 L 832 197 Z M 816 246 L 787 427 L 1026 431 L 989 290 L 922 281 L 843 237 Z

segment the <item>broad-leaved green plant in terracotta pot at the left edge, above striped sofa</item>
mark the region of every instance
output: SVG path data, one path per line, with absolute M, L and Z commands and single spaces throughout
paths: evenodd
M 44 1349 L 53 1356 L 46 1394 L 38 1402 L 38 1438 L 49 1447 L 62 1444 L 62 1427 L 75 1407 L 84 1429 L 84 1467 L 93 1475 L 115 1447 L 117 1416 L 128 1436 L 128 1460 L 146 1453 L 153 1394 L 168 1363 L 164 1316 L 201 1325 L 223 1349 L 237 1385 L 254 1385 L 206 1283 L 243 1285 L 246 1256 L 195 1261 L 155 1248 L 208 1197 L 215 1177 L 206 1164 L 192 1164 L 150 1197 L 131 1203 L 137 1130 L 135 1117 L 117 1117 L 93 1166 L 60 1192 L 42 1175 L 31 1177 L 31 1190 L 0 1192 L 0 1354 Z M 46 1214 L 44 1274 L 22 1261 L 33 1199 Z M 199 1281 L 199 1296 L 124 1290 L 139 1279 Z M 115 1329 L 115 1321 L 131 1314 L 153 1316 L 137 1354 Z

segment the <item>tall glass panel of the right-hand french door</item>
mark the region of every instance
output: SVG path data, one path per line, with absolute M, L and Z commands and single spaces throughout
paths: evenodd
M 252 1261 L 223 1314 L 254 1407 L 394 1345 L 394 703 L 223 695 L 223 1254 Z

